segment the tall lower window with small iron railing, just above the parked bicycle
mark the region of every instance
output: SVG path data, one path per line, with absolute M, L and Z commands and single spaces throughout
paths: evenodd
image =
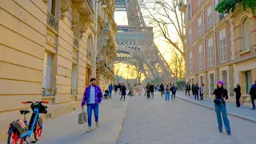
M 52 55 L 48 52 L 45 52 L 42 87 L 44 88 L 44 90 L 46 90 L 44 93 L 44 95 L 46 96 L 50 95 L 49 90 L 50 90 L 51 63 L 52 63 Z

